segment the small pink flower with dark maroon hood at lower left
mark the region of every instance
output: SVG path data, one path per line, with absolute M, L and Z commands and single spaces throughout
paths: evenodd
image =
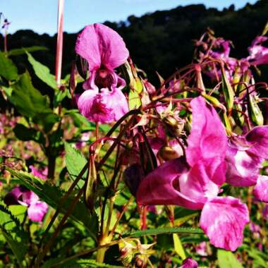
M 42 221 L 47 213 L 48 205 L 24 186 L 15 187 L 4 197 L 6 205 L 23 205 L 28 207 L 28 217 L 32 221 Z

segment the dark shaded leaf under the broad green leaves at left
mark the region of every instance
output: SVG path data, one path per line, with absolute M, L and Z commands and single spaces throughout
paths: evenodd
M 45 143 L 44 135 L 35 128 L 26 128 L 23 124 L 18 123 L 13 131 L 19 140 L 35 140 L 42 144 Z

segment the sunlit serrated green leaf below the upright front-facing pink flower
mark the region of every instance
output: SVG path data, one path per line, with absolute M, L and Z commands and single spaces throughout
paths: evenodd
M 87 164 L 87 159 L 78 150 L 72 147 L 70 143 L 65 142 L 65 162 L 68 173 L 71 178 L 75 179 L 80 171 L 83 169 L 85 164 Z M 87 172 L 82 176 L 83 179 L 87 177 Z

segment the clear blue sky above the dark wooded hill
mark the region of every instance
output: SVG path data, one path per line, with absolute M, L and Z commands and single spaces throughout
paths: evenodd
M 78 32 L 85 25 L 105 20 L 126 20 L 147 12 L 165 10 L 188 4 L 205 4 L 222 9 L 236 8 L 257 0 L 65 0 L 64 30 Z M 11 21 L 9 32 L 31 29 L 40 34 L 56 32 L 57 0 L 0 0 L 0 12 Z

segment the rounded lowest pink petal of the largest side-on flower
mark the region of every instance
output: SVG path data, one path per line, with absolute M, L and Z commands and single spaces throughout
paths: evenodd
M 234 197 L 214 197 L 202 209 L 200 226 L 217 248 L 236 250 L 250 221 L 248 207 Z

